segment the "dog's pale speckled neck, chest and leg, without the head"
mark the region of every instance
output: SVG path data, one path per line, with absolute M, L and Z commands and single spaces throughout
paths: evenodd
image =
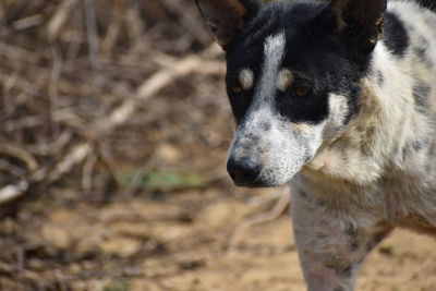
M 361 263 L 396 227 L 436 237 L 436 15 L 412 2 L 388 9 L 413 32 L 404 57 L 377 44 L 359 114 L 292 181 L 311 291 L 353 290 Z

